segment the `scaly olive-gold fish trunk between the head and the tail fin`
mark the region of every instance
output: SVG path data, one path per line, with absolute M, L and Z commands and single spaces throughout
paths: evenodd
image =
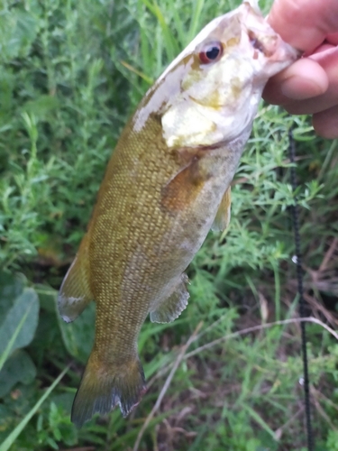
M 169 153 L 160 120 L 151 117 L 141 133 L 126 127 L 106 171 L 87 232 L 104 360 L 135 349 L 147 315 L 185 283 L 182 273 L 206 238 L 239 156 L 224 147 L 191 149 L 186 162 L 179 152 Z

